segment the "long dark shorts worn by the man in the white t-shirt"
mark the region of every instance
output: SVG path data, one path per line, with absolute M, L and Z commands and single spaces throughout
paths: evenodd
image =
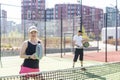
M 81 48 L 81 49 L 76 48 L 75 49 L 75 55 L 74 55 L 73 61 L 76 62 L 78 57 L 79 57 L 80 61 L 83 61 L 83 48 Z

